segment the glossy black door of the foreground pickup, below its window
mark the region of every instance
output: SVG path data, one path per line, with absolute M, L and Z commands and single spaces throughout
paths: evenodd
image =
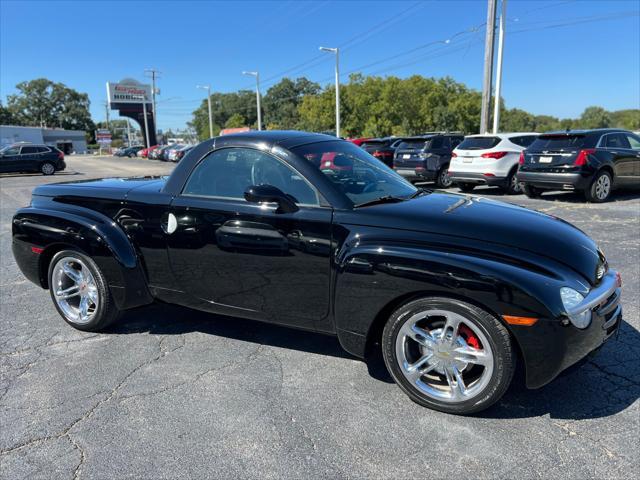
M 330 209 L 179 196 L 169 260 L 181 289 L 211 311 L 314 328 L 327 316 Z

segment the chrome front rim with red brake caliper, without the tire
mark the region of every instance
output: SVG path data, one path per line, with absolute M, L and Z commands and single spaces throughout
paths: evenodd
M 475 323 L 448 310 L 412 315 L 396 337 L 404 377 L 425 395 L 460 403 L 480 395 L 494 370 L 493 351 Z

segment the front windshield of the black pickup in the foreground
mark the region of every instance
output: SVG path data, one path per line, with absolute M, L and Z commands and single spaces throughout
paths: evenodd
M 418 191 L 384 163 L 350 142 L 319 142 L 291 150 L 315 165 L 354 205 L 382 197 L 408 198 Z

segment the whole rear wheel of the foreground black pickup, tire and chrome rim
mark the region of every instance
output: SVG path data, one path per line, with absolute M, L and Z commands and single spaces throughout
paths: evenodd
M 113 301 L 106 279 L 85 254 L 77 250 L 56 253 L 49 263 L 48 280 L 56 310 L 73 328 L 97 332 L 117 320 L 120 310 Z M 84 309 L 83 302 L 86 302 Z

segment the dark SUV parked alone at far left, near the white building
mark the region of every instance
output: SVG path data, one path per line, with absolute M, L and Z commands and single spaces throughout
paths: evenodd
M 0 149 L 0 172 L 42 172 L 53 175 L 64 170 L 64 153 L 56 147 L 18 143 Z

